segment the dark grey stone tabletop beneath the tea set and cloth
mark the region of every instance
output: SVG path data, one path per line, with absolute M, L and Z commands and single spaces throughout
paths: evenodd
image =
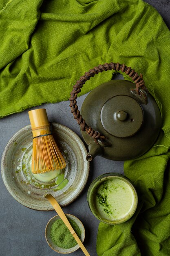
M 146 0 L 152 4 L 163 16 L 166 24 L 170 28 L 170 2 L 169 0 Z M 79 97 L 78 105 L 81 104 L 86 95 Z M 43 104 L 46 108 L 49 120 L 64 124 L 75 131 L 80 137 L 79 127 L 71 115 L 68 102 L 55 104 Z M 9 139 L 20 128 L 29 124 L 28 110 L 19 114 L 11 115 L 0 120 L 0 157 Z M 86 238 L 84 245 L 91 256 L 95 256 L 95 243 L 97 238 L 97 228 L 99 221 L 93 216 L 88 208 L 86 194 L 91 182 L 100 174 L 106 172 L 123 173 L 123 162 L 115 162 L 96 157 L 91 163 L 88 182 L 82 194 L 69 206 L 64 207 L 65 213 L 70 213 L 79 218 L 85 227 Z M 1 256 L 54 256 L 62 255 L 55 253 L 47 245 L 44 230 L 46 223 L 55 216 L 55 211 L 42 212 L 26 208 L 19 204 L 9 194 L 2 178 L 0 177 L 0 255 Z M 73 256 L 83 256 L 81 249 L 73 252 Z M 110 255 L 111 256 L 111 255 Z

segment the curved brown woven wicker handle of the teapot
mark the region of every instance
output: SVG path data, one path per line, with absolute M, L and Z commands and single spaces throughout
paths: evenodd
M 70 101 L 70 108 L 71 112 L 73 113 L 74 119 L 77 120 L 77 123 L 81 127 L 82 131 L 86 131 L 86 133 L 95 139 L 97 142 L 97 139 L 101 138 L 104 139 L 105 137 L 100 135 L 99 132 L 93 130 L 91 126 L 88 126 L 86 124 L 86 121 L 82 118 L 82 115 L 80 114 L 77 106 L 77 94 L 81 92 L 81 89 L 86 83 L 87 80 L 91 78 L 91 76 L 94 76 L 95 74 L 98 74 L 99 72 L 102 73 L 103 71 L 107 70 L 120 70 L 121 72 L 125 72 L 128 76 L 132 78 L 132 81 L 134 81 L 137 93 L 139 94 L 139 88 L 142 88 L 144 90 L 147 90 L 145 87 L 145 82 L 142 78 L 142 74 L 140 76 L 138 75 L 135 70 L 132 70 L 131 67 L 127 67 L 125 64 L 119 64 L 119 63 L 105 63 L 103 65 L 98 65 L 97 67 L 94 67 L 93 69 L 89 70 L 88 72 L 85 72 L 84 76 L 81 76 L 80 79 L 77 81 L 77 83 L 73 86 L 73 90 L 71 92 L 71 98 Z

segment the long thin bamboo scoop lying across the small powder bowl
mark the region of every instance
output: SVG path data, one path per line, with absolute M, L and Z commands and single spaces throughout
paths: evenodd
M 77 236 L 77 234 L 75 233 L 74 229 L 71 227 L 70 222 L 68 221 L 67 217 L 64 214 L 64 211 L 62 210 L 62 208 L 60 207 L 60 205 L 57 203 L 57 201 L 55 200 L 55 198 L 51 195 L 51 194 L 46 194 L 44 195 L 44 197 L 46 199 L 49 200 L 49 202 L 53 205 L 55 211 L 57 212 L 57 214 L 60 216 L 60 218 L 62 219 L 62 221 L 65 223 L 66 227 L 69 229 L 69 231 L 71 232 L 72 236 L 75 238 L 77 244 L 79 245 L 79 247 L 82 249 L 82 251 L 84 252 L 84 254 L 86 256 L 90 256 L 90 254 L 87 252 L 86 248 L 84 247 L 82 241 L 79 239 L 79 237 Z

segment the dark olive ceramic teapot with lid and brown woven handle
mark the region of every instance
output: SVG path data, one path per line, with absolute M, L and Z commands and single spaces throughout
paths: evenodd
M 133 82 L 112 80 L 99 85 L 84 100 L 80 114 L 76 99 L 83 84 L 112 69 L 125 72 Z M 152 147 L 161 128 L 159 108 L 142 75 L 124 64 L 105 63 L 86 72 L 73 86 L 70 107 L 88 144 L 88 161 L 96 155 L 117 161 L 139 157 Z

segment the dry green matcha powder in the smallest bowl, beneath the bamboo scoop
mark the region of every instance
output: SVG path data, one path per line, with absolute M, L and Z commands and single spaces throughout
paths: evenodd
M 81 231 L 77 223 L 75 223 L 74 220 L 68 220 L 77 236 L 81 238 Z M 51 226 L 50 235 L 53 243 L 60 248 L 69 249 L 77 245 L 76 240 L 61 219 L 55 220 L 55 222 Z

